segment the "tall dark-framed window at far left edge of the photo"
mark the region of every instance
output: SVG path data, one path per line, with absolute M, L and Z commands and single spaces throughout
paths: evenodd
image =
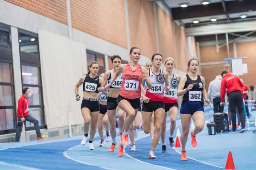
M 0 23 L 0 134 L 16 131 L 10 26 Z

